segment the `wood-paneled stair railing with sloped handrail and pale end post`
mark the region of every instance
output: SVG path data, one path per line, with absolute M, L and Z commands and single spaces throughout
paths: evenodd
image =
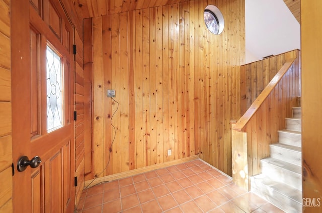
M 285 117 L 299 96 L 299 51 L 288 59 L 250 108 L 232 124 L 232 172 L 235 184 L 250 189 L 249 177 L 261 172 L 260 160 L 269 156 L 269 145 L 277 143 L 277 131 L 285 128 Z M 287 109 L 289 106 L 290 109 Z

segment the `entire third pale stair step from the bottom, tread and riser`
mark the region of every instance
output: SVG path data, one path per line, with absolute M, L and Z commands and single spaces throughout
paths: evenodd
M 272 158 L 302 166 L 302 148 L 287 144 L 271 144 L 270 153 Z

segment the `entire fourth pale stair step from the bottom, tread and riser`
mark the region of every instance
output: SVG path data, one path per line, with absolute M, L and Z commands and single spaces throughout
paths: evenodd
M 297 147 L 302 147 L 302 134 L 293 130 L 279 130 L 278 142 Z

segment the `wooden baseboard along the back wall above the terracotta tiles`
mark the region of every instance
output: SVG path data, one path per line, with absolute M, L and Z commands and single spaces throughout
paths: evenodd
M 155 169 L 161 169 L 161 168 L 173 166 L 173 165 L 180 164 L 180 163 L 186 163 L 186 162 L 196 160 L 199 158 L 200 158 L 199 155 L 194 155 L 194 156 L 190 156 L 190 157 L 186 157 L 186 158 L 182 158 L 182 159 L 178 159 L 178 160 L 168 161 L 168 162 L 155 164 L 155 165 L 151 165 L 151 166 L 147 166 L 147 167 L 143 167 L 143 168 L 139 168 L 139 169 L 134 169 L 134 170 L 126 171 L 126 172 L 112 174 L 112 175 L 108 175 L 105 177 L 99 177 L 94 180 L 93 179 L 87 180 L 87 181 L 85 181 L 84 187 L 89 188 L 91 186 L 94 186 L 94 185 L 102 183 L 102 182 L 109 182 L 109 181 L 113 181 L 113 180 L 117 180 L 117 179 L 122 179 L 122 178 L 130 177 L 133 175 L 141 174 L 144 172 L 153 171 Z

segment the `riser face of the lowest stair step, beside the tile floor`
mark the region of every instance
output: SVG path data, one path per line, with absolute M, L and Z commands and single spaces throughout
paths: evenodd
M 270 201 L 273 205 L 276 205 L 280 209 L 289 213 L 302 212 L 302 205 L 295 200 L 281 194 L 267 185 L 260 183 L 259 181 L 251 178 L 251 191 L 260 197 Z

